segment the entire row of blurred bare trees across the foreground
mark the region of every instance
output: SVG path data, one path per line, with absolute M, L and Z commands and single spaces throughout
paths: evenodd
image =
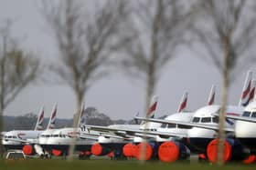
M 113 64 L 122 65 L 125 73 L 144 81 L 147 108 L 162 69 L 176 56 L 180 45 L 204 59 L 208 57 L 219 70 L 224 113 L 232 74 L 253 58 L 255 5 L 246 0 L 64 0 L 42 1 L 39 10 L 59 51 L 58 65 L 50 68 L 73 90 L 78 113 L 90 86 L 108 74 L 107 68 Z M 35 57 L 16 45 L 7 46 L 10 28 L 3 28 L 1 115 L 21 89 L 35 79 L 39 68 Z M 74 120 L 77 125 L 78 119 Z M 222 127 L 223 122 L 219 125 Z

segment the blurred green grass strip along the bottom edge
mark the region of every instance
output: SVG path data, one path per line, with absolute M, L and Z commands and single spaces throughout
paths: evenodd
M 255 169 L 254 165 L 229 164 L 224 166 L 182 163 L 165 164 L 159 161 L 145 162 L 138 161 L 112 161 L 112 160 L 24 160 L 24 161 L 0 161 L 0 170 L 205 170 L 205 169 Z

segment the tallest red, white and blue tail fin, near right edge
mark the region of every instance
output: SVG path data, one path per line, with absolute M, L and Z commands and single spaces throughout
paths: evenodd
M 242 93 L 240 96 L 240 106 L 246 106 L 249 104 L 249 100 L 250 100 L 250 91 L 251 91 L 251 78 L 252 78 L 252 72 L 249 71 L 247 73 L 244 85 L 243 85 L 243 89 L 242 89 Z

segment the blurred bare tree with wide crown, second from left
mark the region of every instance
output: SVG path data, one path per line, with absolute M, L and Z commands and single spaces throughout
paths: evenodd
M 129 40 L 123 36 L 124 1 L 104 1 L 86 11 L 85 5 L 91 4 L 78 0 L 42 1 L 41 7 L 59 48 L 59 64 L 53 65 L 53 71 L 76 95 L 75 127 L 86 92 L 95 80 L 106 75 L 104 68 L 113 54 Z

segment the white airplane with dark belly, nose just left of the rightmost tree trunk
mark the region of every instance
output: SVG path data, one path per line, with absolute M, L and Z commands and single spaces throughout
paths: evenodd
M 250 91 L 251 91 L 251 75 L 249 72 L 243 91 L 241 95 L 240 106 L 227 106 L 226 113 L 227 115 L 241 115 L 243 113 L 243 107 L 251 100 Z M 159 120 L 159 119 L 148 119 L 155 123 L 163 124 L 175 124 L 175 125 L 187 125 L 187 127 L 192 127 L 187 132 L 187 139 L 190 145 L 194 145 L 195 149 L 199 154 L 206 154 L 207 147 L 209 142 L 217 137 L 216 126 L 215 130 L 212 130 L 212 125 L 217 125 L 219 120 L 217 117 L 213 116 L 215 113 L 219 113 L 220 105 L 209 105 L 198 109 L 193 115 L 191 122 L 187 123 L 185 121 L 171 121 L 171 120 Z M 138 118 L 139 120 L 144 120 L 144 118 Z M 203 125 L 198 125 L 203 124 Z M 234 128 L 234 123 L 229 119 L 226 119 L 226 129 L 231 130 Z

